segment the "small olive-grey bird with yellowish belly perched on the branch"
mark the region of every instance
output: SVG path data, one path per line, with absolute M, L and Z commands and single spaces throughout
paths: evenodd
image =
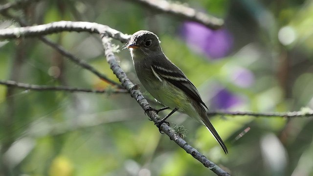
M 165 106 L 160 110 L 172 109 L 157 123 L 159 130 L 160 125 L 174 112 L 185 113 L 205 125 L 224 153 L 228 154 L 224 141 L 208 119 L 206 113 L 208 108 L 202 101 L 199 91 L 179 67 L 165 56 L 160 43 L 155 33 L 140 30 L 135 32 L 126 44 L 141 85 Z

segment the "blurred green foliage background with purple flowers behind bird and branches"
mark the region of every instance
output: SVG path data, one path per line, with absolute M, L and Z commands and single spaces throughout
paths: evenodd
M 7 2 L 13 0 L 1 4 Z M 136 0 L 38 0 L 8 13 L 31 24 L 87 21 L 127 34 L 153 31 L 210 111 L 313 108 L 313 0 L 173 2 L 224 19 L 224 28 L 214 31 Z M 12 26 L 19 24 L 0 16 L 0 28 Z M 47 37 L 118 81 L 98 35 Z M 120 45 L 121 67 L 139 83 L 129 51 L 113 42 Z M 0 80 L 112 88 L 36 38 L 0 42 Z M 234 176 L 313 176 L 312 117 L 212 116 L 227 155 L 204 126 L 186 115 L 175 113 L 168 121 L 184 126 L 185 140 Z M 215 174 L 160 134 L 129 94 L 0 86 L 0 176 L 204 175 Z

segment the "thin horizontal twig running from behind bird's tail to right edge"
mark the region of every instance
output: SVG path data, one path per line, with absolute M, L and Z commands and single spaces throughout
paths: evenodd
M 208 115 L 225 115 L 225 116 L 236 116 L 236 115 L 249 115 L 255 117 L 312 117 L 313 110 L 293 111 L 293 112 L 222 112 L 212 111 L 208 112 Z

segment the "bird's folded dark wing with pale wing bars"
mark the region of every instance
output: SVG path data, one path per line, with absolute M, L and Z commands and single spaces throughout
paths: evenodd
M 166 58 L 166 60 L 168 60 Z M 201 99 L 201 96 L 197 90 L 197 88 L 188 80 L 185 74 L 179 69 L 179 67 L 175 66 L 170 60 L 162 66 L 158 64 L 158 62 L 153 62 L 151 65 L 152 71 L 155 74 L 156 78 L 160 77 L 165 79 L 166 81 L 172 83 L 177 88 L 180 88 L 182 91 L 186 93 L 190 98 L 194 99 L 201 103 L 206 109 L 207 106 Z

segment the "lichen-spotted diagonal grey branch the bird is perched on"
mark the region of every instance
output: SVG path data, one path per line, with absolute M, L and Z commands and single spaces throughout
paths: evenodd
M 140 92 L 137 85 L 134 85 L 126 76 L 125 72 L 121 69 L 121 67 L 118 65 L 116 61 L 116 57 L 113 54 L 113 47 L 111 44 L 111 39 L 107 34 L 103 33 L 101 34 L 102 38 L 102 44 L 104 46 L 105 55 L 107 58 L 108 63 L 111 66 L 111 69 L 113 70 L 113 73 L 117 76 L 117 78 L 122 83 L 122 86 L 126 88 L 130 94 L 136 99 L 138 104 L 141 106 L 143 110 L 148 110 L 150 107 L 147 100 L 144 98 L 142 93 Z M 148 116 L 154 121 L 159 122 L 160 119 L 155 111 L 148 111 Z M 227 172 L 225 172 L 223 169 L 221 169 L 219 166 L 217 166 L 212 161 L 208 160 L 203 154 L 198 152 L 195 148 L 187 144 L 185 140 L 183 140 L 179 134 L 176 134 L 174 130 L 172 130 L 166 123 L 163 123 L 161 125 L 162 131 L 167 134 L 171 140 L 174 140 L 182 149 L 184 149 L 188 154 L 191 154 L 194 158 L 199 160 L 205 167 L 209 168 L 211 171 L 213 171 L 218 176 L 230 176 Z

